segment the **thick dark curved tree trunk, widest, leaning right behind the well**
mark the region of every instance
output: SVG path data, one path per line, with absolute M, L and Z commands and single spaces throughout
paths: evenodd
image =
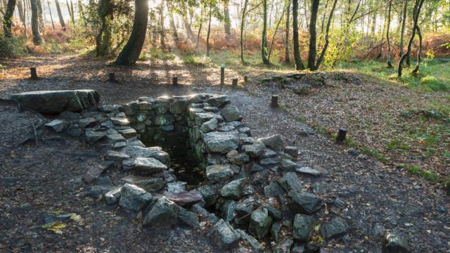
M 135 0 L 134 3 L 133 30 L 131 31 L 131 36 L 127 44 L 115 60 L 115 64 L 117 65 L 134 65 L 141 54 L 143 43 L 146 40 L 148 0 Z

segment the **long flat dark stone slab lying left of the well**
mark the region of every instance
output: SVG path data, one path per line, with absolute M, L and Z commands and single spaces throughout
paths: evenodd
M 46 114 L 58 114 L 65 110 L 81 112 L 96 107 L 100 96 L 91 89 L 67 91 L 29 91 L 11 96 L 20 105 Z

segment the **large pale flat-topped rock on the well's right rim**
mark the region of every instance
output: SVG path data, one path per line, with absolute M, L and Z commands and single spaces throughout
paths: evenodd
M 227 132 L 210 132 L 205 134 L 203 141 L 208 152 L 226 154 L 238 148 L 239 140 L 236 134 Z

